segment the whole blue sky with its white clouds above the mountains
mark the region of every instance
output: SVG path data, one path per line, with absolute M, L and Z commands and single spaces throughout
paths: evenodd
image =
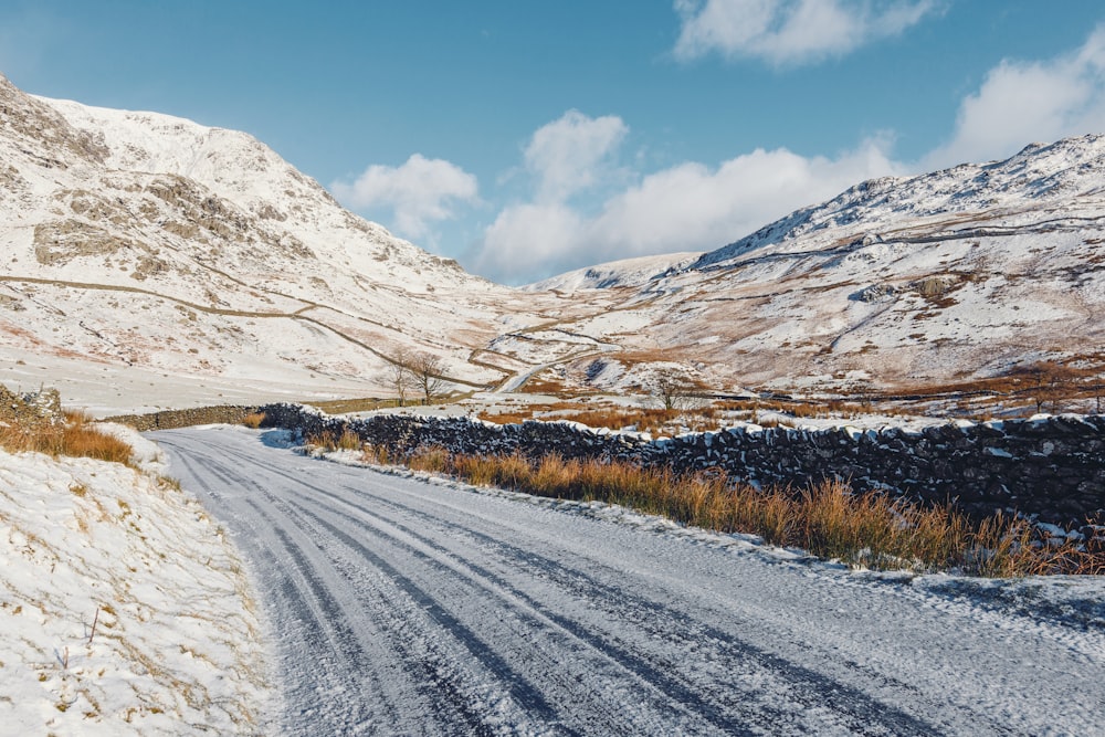
M 1105 8 L 7 0 L 0 71 L 246 130 L 398 235 L 522 283 L 1105 131 Z

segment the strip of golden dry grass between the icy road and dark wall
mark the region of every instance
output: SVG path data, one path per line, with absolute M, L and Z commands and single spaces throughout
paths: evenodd
M 1024 520 L 972 522 L 949 505 L 922 506 L 886 494 L 856 494 L 838 480 L 808 488 L 757 489 L 724 472 L 677 474 L 630 463 L 513 455 L 461 455 L 423 449 L 411 467 L 474 485 L 555 498 L 601 501 L 720 533 L 809 550 L 871 569 L 959 571 L 982 577 L 1105 572 L 1105 546 L 1050 546 Z

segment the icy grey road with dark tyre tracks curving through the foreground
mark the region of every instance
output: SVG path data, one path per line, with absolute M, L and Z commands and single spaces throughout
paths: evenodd
M 313 460 L 242 429 L 152 436 L 250 561 L 283 689 L 274 733 L 1105 734 L 1099 620 Z

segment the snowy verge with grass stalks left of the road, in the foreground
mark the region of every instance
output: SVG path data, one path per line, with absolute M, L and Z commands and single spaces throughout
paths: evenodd
M 0 733 L 252 735 L 269 673 L 254 593 L 159 449 L 143 471 L 0 451 Z

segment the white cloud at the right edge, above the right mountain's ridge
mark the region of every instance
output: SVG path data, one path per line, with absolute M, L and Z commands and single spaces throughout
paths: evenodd
M 1003 158 L 1034 141 L 1105 131 L 1105 28 L 1071 54 L 1003 61 L 959 107 L 951 140 L 925 169 Z

